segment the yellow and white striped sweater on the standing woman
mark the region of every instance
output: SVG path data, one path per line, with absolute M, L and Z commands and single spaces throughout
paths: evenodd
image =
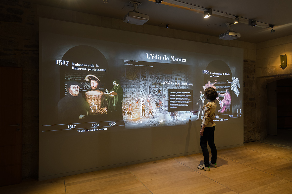
M 213 127 L 215 125 L 214 117 L 216 108 L 217 104 L 213 101 L 199 108 L 199 111 L 203 111 L 202 125 L 205 124 L 206 127 Z

